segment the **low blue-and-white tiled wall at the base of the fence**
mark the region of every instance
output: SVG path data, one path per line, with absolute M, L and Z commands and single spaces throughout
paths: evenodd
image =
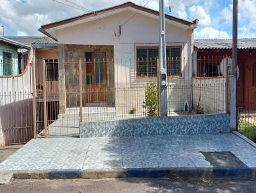
M 219 132 L 230 132 L 228 114 L 105 120 L 84 122 L 79 125 L 80 137 L 129 137 Z

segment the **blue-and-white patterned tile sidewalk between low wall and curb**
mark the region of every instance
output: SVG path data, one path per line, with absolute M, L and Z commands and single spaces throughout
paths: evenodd
M 232 133 L 32 139 L 1 170 L 212 167 L 200 151 L 231 151 L 256 167 L 256 148 Z

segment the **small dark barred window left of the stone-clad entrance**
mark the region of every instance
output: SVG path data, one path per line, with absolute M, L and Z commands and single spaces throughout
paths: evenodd
M 58 59 L 45 59 L 46 81 L 58 81 Z

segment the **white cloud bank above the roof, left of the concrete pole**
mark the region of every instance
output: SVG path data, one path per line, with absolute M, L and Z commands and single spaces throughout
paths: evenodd
M 70 4 L 65 0 L 58 0 L 65 4 Z M 72 2 L 84 6 L 88 10 L 100 10 L 125 3 L 125 0 L 72 0 Z M 135 0 L 136 4 L 144 6 L 148 0 Z M 73 4 L 73 6 L 75 6 Z M 148 8 L 159 10 L 158 1 L 151 0 L 147 4 Z M 14 31 L 12 35 L 42 35 L 38 32 L 38 28 L 43 24 L 54 22 L 57 20 L 67 19 L 87 13 L 81 10 L 70 8 L 64 4 L 56 3 L 52 0 L 1 0 L 0 4 L 0 22 L 7 24 Z M 17 20 L 15 22 L 14 20 Z M 21 27 L 20 27 L 21 26 Z M 10 35 L 10 31 L 6 26 L 6 35 Z M 18 33 L 19 31 L 19 33 Z

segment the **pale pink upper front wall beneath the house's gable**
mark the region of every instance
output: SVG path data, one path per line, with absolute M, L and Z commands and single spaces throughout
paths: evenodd
M 121 58 L 131 56 L 132 61 L 134 61 L 134 58 L 136 58 L 136 46 L 158 45 L 159 21 L 141 15 L 139 12 L 124 24 L 132 15 L 134 15 L 134 12 L 127 10 L 104 19 L 60 29 L 58 30 L 58 43 L 114 45 L 115 59 L 120 60 Z M 121 29 L 121 35 L 119 35 L 120 24 L 124 24 Z M 191 41 L 193 42 L 191 35 L 193 35 L 191 29 L 186 30 L 166 23 L 167 45 L 182 46 L 182 77 L 186 79 L 189 79 L 189 73 L 191 72 L 191 67 L 189 67 L 191 65 L 189 64 L 189 60 L 193 51 L 191 50 L 191 47 L 193 47 L 193 43 L 191 44 Z M 132 67 L 134 68 L 134 65 Z M 116 74 L 118 75 L 115 77 L 115 82 L 127 82 L 131 80 L 129 78 L 129 70 L 125 70 L 125 66 L 122 68 L 122 73 L 118 72 Z

